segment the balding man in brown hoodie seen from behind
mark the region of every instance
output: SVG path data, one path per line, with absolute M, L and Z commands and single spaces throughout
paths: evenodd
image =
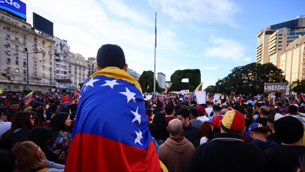
M 159 159 L 169 172 L 182 172 L 195 148 L 185 137 L 181 137 L 183 129 L 179 119 L 171 120 L 167 131 L 170 133 L 170 138 L 160 145 Z

